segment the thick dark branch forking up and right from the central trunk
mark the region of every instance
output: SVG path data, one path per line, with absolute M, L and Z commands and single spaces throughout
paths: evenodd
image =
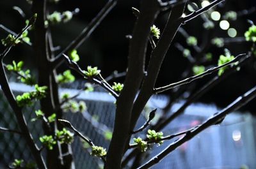
M 172 43 L 175 34 L 177 33 L 177 29 L 179 29 L 181 25 L 179 18 L 184 11 L 184 6 L 185 5 L 182 4 L 180 6 L 173 7 L 170 17 L 168 18 L 166 27 L 164 28 L 163 34 L 157 42 L 156 48 L 154 48 L 154 50 L 152 51 L 147 69 L 148 75 L 143 81 L 141 91 L 134 103 L 134 107 L 132 108 L 130 131 L 133 130 L 143 108 L 145 107 L 150 96 L 152 96 L 153 94 L 153 88 L 156 83 L 157 75 L 161 68 L 164 56 L 166 55 L 166 52 L 170 47 L 170 44 Z

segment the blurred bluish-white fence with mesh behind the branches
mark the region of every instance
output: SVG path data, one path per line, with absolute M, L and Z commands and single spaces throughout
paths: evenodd
M 15 94 L 20 92 L 31 91 L 33 88 L 22 84 L 12 83 L 11 87 Z M 61 89 L 61 92 L 76 93 L 74 89 Z M 113 128 L 115 115 L 115 99 L 106 92 L 90 92 L 81 93 L 77 98 L 86 102 L 87 110 L 82 114 L 65 114 L 64 119 L 68 119 L 72 124 L 84 135 L 93 140 L 96 145 L 108 147 L 109 131 Z M 152 108 L 159 108 L 157 112 L 161 114 L 163 107 L 168 98 L 164 96 L 156 96 L 148 102 L 145 114 Z M 182 102 L 177 103 L 173 110 L 179 108 Z M 42 135 L 40 130 L 40 122 L 31 122 L 30 119 L 35 117 L 31 110 L 36 110 L 38 106 L 24 109 L 24 115 L 28 121 L 29 129 L 33 133 L 33 137 L 38 141 Z M 173 111 L 172 110 L 172 111 Z M 214 114 L 217 108 L 213 105 L 193 104 L 178 119 L 167 126 L 163 133 L 170 135 L 184 129 L 191 128 L 200 124 L 210 115 Z M 146 115 L 147 116 L 147 115 Z M 156 117 L 157 118 L 157 117 Z M 145 121 L 144 117 L 140 118 L 138 124 Z M 200 135 L 191 141 L 184 143 L 177 150 L 173 151 L 163 159 L 157 168 L 227 168 L 238 169 L 242 165 L 249 168 L 256 168 L 256 147 L 255 138 L 255 119 L 250 114 L 230 114 L 220 126 L 213 126 L 206 129 Z M 9 107 L 2 92 L 0 93 L 0 126 L 10 129 L 18 129 L 15 116 Z M 176 138 L 177 139 L 177 138 Z M 173 140 L 166 141 L 160 147 L 151 147 L 150 156 L 152 158 Z M 72 151 L 76 168 L 99 168 L 98 159 L 92 158 L 90 152 L 82 149 L 82 143 L 79 138 L 72 143 Z M 13 133 L 0 133 L 0 168 L 7 168 L 13 159 L 32 160 L 31 153 L 24 139 Z M 127 165 L 129 168 L 129 165 Z

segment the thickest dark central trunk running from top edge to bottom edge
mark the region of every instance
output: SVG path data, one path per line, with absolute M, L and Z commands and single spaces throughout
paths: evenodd
M 141 85 L 145 66 L 150 27 L 159 13 L 159 3 L 156 0 L 142 0 L 141 13 L 132 33 L 129 48 L 129 64 L 124 89 L 116 101 L 115 126 L 113 138 L 109 145 L 105 168 L 121 168 L 122 156 L 131 132 L 130 119 L 134 98 Z

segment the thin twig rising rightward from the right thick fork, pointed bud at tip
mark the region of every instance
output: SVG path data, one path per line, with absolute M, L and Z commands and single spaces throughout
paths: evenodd
M 163 91 L 166 91 L 166 90 L 169 90 L 169 89 L 173 89 L 173 88 L 175 88 L 177 86 L 180 86 L 180 85 L 189 84 L 189 83 L 193 82 L 194 80 L 196 80 L 198 78 L 202 78 L 205 75 L 209 75 L 209 74 L 213 73 L 214 71 L 217 71 L 217 70 L 220 70 L 221 68 L 224 68 L 225 66 L 228 66 L 230 64 L 234 64 L 235 62 L 239 61 L 241 59 L 241 57 L 243 57 L 244 55 L 246 55 L 246 54 L 237 55 L 235 57 L 235 59 L 233 59 L 232 61 L 229 61 L 225 64 L 222 64 L 221 66 L 216 66 L 216 67 L 210 68 L 209 70 L 206 70 L 206 71 L 204 71 L 203 73 L 201 73 L 199 75 L 195 75 L 193 77 L 186 78 L 184 80 L 181 80 L 179 82 L 175 82 L 175 83 L 170 84 L 170 85 L 166 85 L 164 87 L 156 88 L 156 89 L 154 89 L 154 92 L 159 93 L 159 92 L 163 92 Z

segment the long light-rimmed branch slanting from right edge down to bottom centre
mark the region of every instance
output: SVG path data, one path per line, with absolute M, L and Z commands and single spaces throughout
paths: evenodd
M 198 135 L 201 131 L 204 131 L 204 129 L 209 128 L 210 126 L 213 126 L 215 124 L 220 124 L 220 122 L 223 121 L 226 115 L 230 114 L 231 112 L 234 112 L 238 108 L 243 107 L 246 103 L 251 101 L 253 98 L 256 96 L 256 87 L 253 87 L 250 89 L 250 91 L 246 92 L 243 94 L 243 96 L 240 96 L 237 98 L 235 101 L 233 101 L 230 105 L 228 105 L 226 108 L 221 110 L 220 112 L 216 112 L 212 117 L 209 117 L 205 122 L 202 124 L 196 126 L 195 128 L 191 129 L 191 131 L 188 131 L 184 136 L 179 138 L 179 140 L 171 143 L 164 151 L 160 152 L 156 156 L 154 156 L 152 159 L 150 159 L 147 163 L 144 165 L 140 166 L 137 169 L 145 169 L 145 168 L 150 168 L 153 165 L 156 165 L 163 159 L 165 156 L 170 154 L 173 150 L 175 150 L 177 147 L 182 145 L 182 143 L 187 142 L 194 136 Z

